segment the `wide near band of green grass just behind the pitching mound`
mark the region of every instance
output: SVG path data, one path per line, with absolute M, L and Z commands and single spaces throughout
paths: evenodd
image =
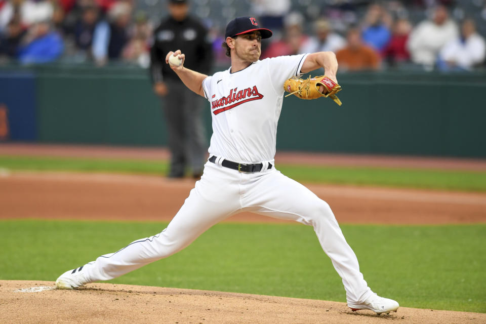
M 0 279 L 55 280 L 165 226 L 0 221 Z M 486 224 L 342 229 L 378 294 L 404 307 L 486 312 Z M 180 253 L 111 282 L 345 301 L 312 228 L 293 224 L 218 224 Z

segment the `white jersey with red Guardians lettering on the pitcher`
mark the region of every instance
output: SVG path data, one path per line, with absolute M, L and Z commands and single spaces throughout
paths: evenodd
M 284 82 L 300 76 L 307 54 L 279 56 L 203 80 L 211 103 L 213 136 L 209 153 L 239 163 L 272 161 Z

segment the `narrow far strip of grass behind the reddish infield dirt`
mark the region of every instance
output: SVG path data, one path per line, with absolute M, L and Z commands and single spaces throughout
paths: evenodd
M 168 171 L 168 164 L 153 160 L 0 156 L 0 168 L 162 175 Z M 486 172 L 290 165 L 277 168 L 300 182 L 486 192 Z

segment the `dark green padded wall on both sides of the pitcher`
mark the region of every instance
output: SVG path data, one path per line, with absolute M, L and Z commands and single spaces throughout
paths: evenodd
M 39 142 L 167 144 L 147 70 L 43 66 L 36 79 Z M 284 98 L 277 149 L 486 157 L 486 73 L 341 73 L 330 99 Z M 4 90 L 0 90 L 2 98 Z M 205 124 L 211 136 L 207 101 Z

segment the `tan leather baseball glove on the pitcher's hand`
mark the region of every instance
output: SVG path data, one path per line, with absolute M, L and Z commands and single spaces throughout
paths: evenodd
M 320 86 L 323 92 L 319 91 Z M 331 97 L 338 105 L 342 102 L 336 97 L 336 93 L 342 90 L 341 86 L 335 83 L 326 75 L 310 77 L 308 79 L 290 78 L 284 83 L 284 89 L 290 92 L 286 97 L 295 95 L 301 99 L 317 99 L 320 97 Z

